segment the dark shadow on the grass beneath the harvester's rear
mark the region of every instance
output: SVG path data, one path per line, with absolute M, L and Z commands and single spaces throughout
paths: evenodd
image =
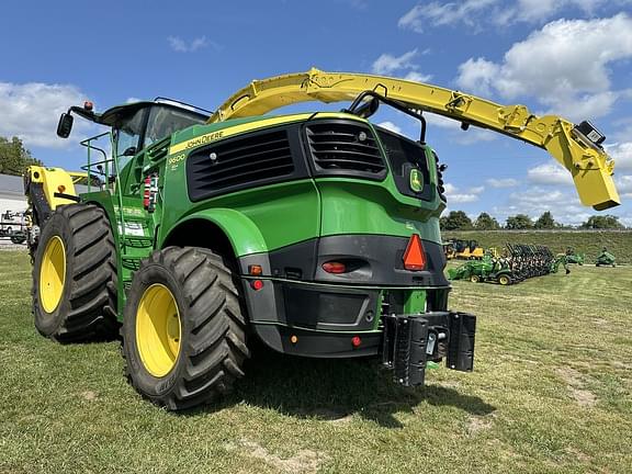
M 403 427 L 394 414 L 410 413 L 422 403 L 452 406 L 479 416 L 495 410 L 479 397 L 453 388 L 397 385 L 376 359 L 304 359 L 259 349 L 246 371 L 246 377 L 236 384 L 235 393 L 222 403 L 223 407 L 244 400 L 287 416 L 329 421 L 358 414 L 388 428 Z

